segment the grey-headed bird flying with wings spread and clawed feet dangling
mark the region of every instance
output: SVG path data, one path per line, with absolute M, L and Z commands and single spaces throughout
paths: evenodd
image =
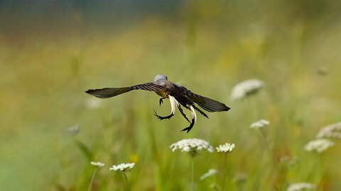
M 183 129 L 183 131 L 187 132 L 190 132 L 190 129 L 193 128 L 195 121 L 197 120 L 197 114 L 195 110 L 200 112 L 201 115 L 204 115 L 208 118 L 205 112 L 200 110 L 200 108 L 206 110 L 207 112 L 221 112 L 228 111 L 230 109 L 229 107 L 224 105 L 224 103 L 220 103 L 219 101 L 197 95 L 196 93 L 193 93 L 183 86 L 168 81 L 167 76 L 160 74 L 156 75 L 154 81 L 149 83 L 142 83 L 135 86 L 122 88 L 102 88 L 94 90 L 90 89 L 85 92 L 97 98 L 111 98 L 133 90 L 155 92 L 156 94 L 158 94 L 158 96 L 161 96 L 159 100 L 159 105 L 162 105 L 164 99 L 169 98 L 171 103 L 171 114 L 163 117 L 158 115 L 154 110 L 154 115 L 158 117 L 159 120 L 171 119 L 171 117 L 173 117 L 175 113 L 175 107 L 178 108 L 181 115 L 183 115 L 183 117 L 185 117 L 185 119 L 190 122 L 190 126 Z M 200 108 L 198 108 L 195 104 L 199 105 Z M 188 120 L 188 117 L 183 112 L 181 106 L 190 110 L 190 112 L 192 113 L 191 120 Z

